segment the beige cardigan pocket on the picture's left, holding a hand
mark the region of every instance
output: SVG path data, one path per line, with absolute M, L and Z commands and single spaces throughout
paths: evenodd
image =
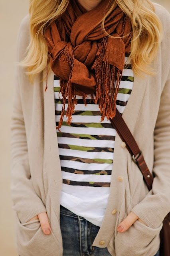
M 45 235 L 40 221 L 30 221 L 29 224 L 21 223 L 16 213 L 16 248 L 21 256 L 54 256 L 59 242 L 53 232 Z M 62 255 L 62 254 L 61 254 Z M 60 254 L 59 254 L 60 256 Z

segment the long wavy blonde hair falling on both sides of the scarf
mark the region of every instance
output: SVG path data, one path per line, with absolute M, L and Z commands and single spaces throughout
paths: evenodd
M 105 28 L 105 18 L 116 4 L 125 12 L 132 23 L 132 40 L 130 56 L 134 74 L 143 77 L 142 72 L 154 75 L 149 64 L 155 58 L 160 42 L 163 39 L 162 22 L 155 14 L 154 4 L 150 0 L 110 0 L 113 2 L 110 10 L 103 17 L 101 27 Z M 33 82 L 36 74 L 40 73 L 47 62 L 47 44 L 44 30 L 48 24 L 56 20 L 67 8 L 69 0 L 30 0 L 30 36 L 24 60 L 18 62 L 26 67 L 26 74 Z M 113 37 L 113 36 L 111 36 Z M 49 65 L 49 63 L 48 63 Z M 45 79 L 45 78 L 44 78 Z

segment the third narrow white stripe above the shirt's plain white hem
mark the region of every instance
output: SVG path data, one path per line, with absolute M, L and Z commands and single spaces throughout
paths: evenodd
M 66 148 L 59 148 L 59 155 L 60 156 L 74 156 L 80 157 L 85 159 L 112 159 L 114 153 L 113 152 L 87 152 L 82 150 L 73 150 L 73 149 L 66 149 Z

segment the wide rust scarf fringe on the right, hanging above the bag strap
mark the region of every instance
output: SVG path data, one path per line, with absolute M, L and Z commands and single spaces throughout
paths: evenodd
M 106 54 L 106 60 L 103 57 Z M 101 121 L 105 116 L 107 120 L 116 114 L 116 100 L 119 85 L 122 78 L 122 70 L 108 63 L 107 38 L 104 37 L 98 43 L 95 62 L 91 69 L 95 70 L 96 97 L 95 104 L 99 101 Z

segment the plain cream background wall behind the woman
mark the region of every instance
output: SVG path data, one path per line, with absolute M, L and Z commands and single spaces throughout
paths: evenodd
M 170 11 L 170 0 L 155 0 Z M 0 0 L 0 256 L 18 256 L 10 195 L 10 117 L 16 36 L 28 0 Z M 24 256 L 24 255 L 22 255 Z

